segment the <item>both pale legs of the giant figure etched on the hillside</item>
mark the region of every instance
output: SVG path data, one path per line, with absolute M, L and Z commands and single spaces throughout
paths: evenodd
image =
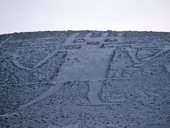
M 89 83 L 88 85 L 90 87 L 90 91 L 88 93 L 88 98 L 89 98 L 91 104 L 89 104 L 89 105 L 80 105 L 80 106 L 114 105 L 114 103 L 102 103 L 101 100 L 99 99 L 99 92 L 101 91 L 101 87 L 102 87 L 103 82 L 105 80 L 125 80 L 125 79 L 113 78 L 113 79 L 104 79 L 104 80 L 95 80 L 95 81 L 92 81 L 92 80 L 84 81 L 84 82 Z M 74 80 L 74 81 L 76 81 L 76 80 Z M 80 80 L 77 80 L 77 81 L 80 81 Z M 22 110 L 28 108 L 29 106 L 31 106 L 31 105 L 33 105 L 35 103 L 38 103 L 39 101 L 42 101 L 43 99 L 45 99 L 45 98 L 53 95 L 54 93 L 56 93 L 62 87 L 62 85 L 65 82 L 67 82 L 67 81 L 64 81 L 64 82 L 50 81 L 49 83 L 52 83 L 54 85 L 52 87 L 50 87 L 48 90 L 46 90 L 44 93 L 42 93 L 40 96 L 34 98 L 33 100 L 31 100 L 30 102 L 28 102 L 28 103 L 26 103 L 24 105 L 21 105 L 14 112 L 5 113 L 3 115 L 0 115 L 0 117 L 10 117 L 10 116 L 13 116 L 15 114 L 18 114 L 19 111 L 22 111 Z

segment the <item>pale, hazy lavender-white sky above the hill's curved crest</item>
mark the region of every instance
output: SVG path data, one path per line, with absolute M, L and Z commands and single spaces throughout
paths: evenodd
M 0 0 L 0 34 L 53 30 L 170 32 L 170 0 Z

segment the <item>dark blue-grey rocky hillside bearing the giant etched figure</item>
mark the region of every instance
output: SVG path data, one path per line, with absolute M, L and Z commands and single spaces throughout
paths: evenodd
M 170 33 L 0 35 L 0 128 L 170 128 Z

